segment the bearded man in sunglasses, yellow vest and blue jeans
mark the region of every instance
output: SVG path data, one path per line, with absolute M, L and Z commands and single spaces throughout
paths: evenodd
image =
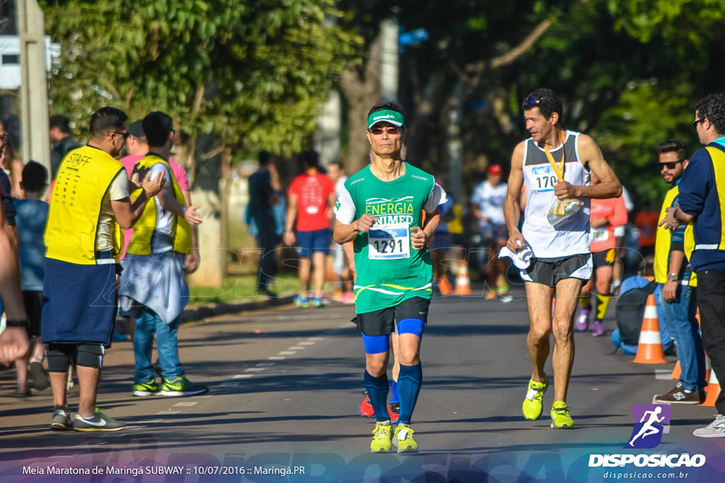
M 667 192 L 660 210 L 660 220 L 666 210 L 676 206 L 679 182 L 687 167 L 687 146 L 679 139 L 658 143 L 657 169 L 672 188 Z M 682 371 L 677 385 L 668 393 L 655 396 L 658 403 L 700 404 L 705 400 L 705 352 L 697 324 L 695 277 L 691 275 L 685 253 L 692 245 L 692 227 L 681 225 L 670 232 L 658 227 L 655 234 L 655 297 L 662 308 L 663 324 L 677 342 L 677 358 Z

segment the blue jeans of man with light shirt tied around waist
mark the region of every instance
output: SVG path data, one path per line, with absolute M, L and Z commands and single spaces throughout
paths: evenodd
M 141 315 L 136 319 L 136 332 L 133 333 L 133 356 L 136 358 L 133 380 L 136 384 L 145 384 L 155 378 L 154 364 L 151 361 L 154 332 L 156 332 L 156 348 L 159 353 L 162 377 L 173 381 L 177 377 L 183 376 L 177 343 L 180 320 L 181 317 L 177 317 L 166 325 L 161 317 L 150 308 L 144 307 L 141 310 Z

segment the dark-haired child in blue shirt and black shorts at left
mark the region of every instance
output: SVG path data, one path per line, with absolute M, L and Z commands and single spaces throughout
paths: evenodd
M 45 278 L 45 253 L 43 232 L 48 220 L 49 205 L 41 201 L 48 187 L 48 171 L 42 164 L 30 161 L 22 169 L 21 187 L 25 198 L 15 200 L 17 208 L 16 222 L 20 239 L 20 282 L 25 310 L 28 312 L 30 328 L 28 337 L 35 348 L 30 353 L 30 372 L 33 375 L 33 387 L 46 390 L 49 387 L 48 373 L 43 368 L 45 345 L 40 341 L 41 311 L 43 308 L 43 278 Z M 28 361 L 16 361 L 17 391 L 15 395 L 30 395 L 28 388 Z

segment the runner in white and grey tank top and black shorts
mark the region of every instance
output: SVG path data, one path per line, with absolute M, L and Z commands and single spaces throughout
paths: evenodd
M 574 358 L 573 314 L 581 285 L 592 276 L 589 200 L 620 196 L 621 185 L 592 138 L 561 127 L 563 106 L 553 91 L 537 89 L 523 100 L 522 109 L 531 138 L 518 143 L 513 151 L 504 215 L 508 249 L 519 252 L 529 245 L 533 251 L 531 264 L 521 270 L 529 303 L 531 325 L 526 343 L 532 369 L 523 416 L 531 420 L 541 416 L 548 387 L 544 364 L 553 332 L 556 384 L 551 427 L 571 428 L 574 421 L 566 406 L 566 392 Z M 589 185 L 589 170 L 602 180 L 600 184 Z M 521 185 L 528 198 L 523 234 L 518 230 Z M 580 208 L 554 227 L 547 214 L 557 198 L 576 200 Z M 557 301 L 552 320 L 554 295 Z

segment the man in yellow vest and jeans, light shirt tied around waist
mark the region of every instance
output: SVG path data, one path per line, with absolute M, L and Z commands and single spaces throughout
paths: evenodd
M 169 182 L 146 205 L 123 261 L 121 305 L 136 317 L 133 395 L 202 394 L 209 388 L 186 379 L 177 342 L 181 312 L 188 302 L 184 264 L 192 250 L 191 225 L 201 223 L 202 215 L 196 212 L 199 206 L 186 206 L 168 161 L 175 137 L 173 119 L 163 112 L 152 112 L 142 126 L 149 153 L 136 166 L 149 169 L 151 177 L 164 175 Z M 151 358 L 154 333 L 163 379 L 160 388 Z

